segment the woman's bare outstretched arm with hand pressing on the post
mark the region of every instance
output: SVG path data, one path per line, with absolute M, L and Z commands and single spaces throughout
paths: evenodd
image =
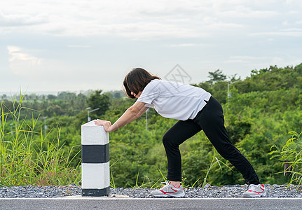
M 95 125 L 103 125 L 106 132 L 114 132 L 118 130 L 118 128 L 123 127 L 142 116 L 142 113 L 148 109 L 145 104 L 146 103 L 143 102 L 135 102 L 135 104 L 123 113 L 121 118 L 116 120 L 114 125 L 111 125 L 111 122 L 107 120 L 95 120 Z

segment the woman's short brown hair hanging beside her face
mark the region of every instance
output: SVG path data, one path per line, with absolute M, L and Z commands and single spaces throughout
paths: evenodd
M 138 94 L 139 91 L 143 91 L 146 85 L 148 85 L 151 80 L 159 79 L 158 76 L 153 76 L 151 73 L 142 68 L 132 69 L 124 78 L 124 93 L 128 98 L 135 99 L 131 94 L 134 92 Z

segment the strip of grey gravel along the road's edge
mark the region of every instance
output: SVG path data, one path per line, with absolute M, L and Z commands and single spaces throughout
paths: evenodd
M 279 198 L 301 198 L 302 188 L 291 185 L 266 184 L 268 197 Z M 247 185 L 234 186 L 210 186 L 207 184 L 204 188 L 185 188 L 186 198 L 214 198 L 214 197 L 241 197 L 247 190 Z M 132 198 L 151 198 L 153 189 L 142 188 L 111 188 L 110 195 L 126 195 Z M 53 198 L 81 195 L 81 186 L 71 184 L 69 186 L 13 186 L 1 187 L 0 198 Z

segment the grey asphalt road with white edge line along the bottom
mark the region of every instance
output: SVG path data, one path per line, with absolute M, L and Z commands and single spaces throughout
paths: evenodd
M 0 209 L 302 209 L 302 199 L 0 199 Z

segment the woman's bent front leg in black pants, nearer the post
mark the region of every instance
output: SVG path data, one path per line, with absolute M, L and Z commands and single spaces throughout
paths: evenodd
M 200 126 L 193 120 L 179 120 L 163 136 L 163 145 L 167 154 L 167 179 L 181 181 L 181 155 L 179 145 L 200 132 Z

